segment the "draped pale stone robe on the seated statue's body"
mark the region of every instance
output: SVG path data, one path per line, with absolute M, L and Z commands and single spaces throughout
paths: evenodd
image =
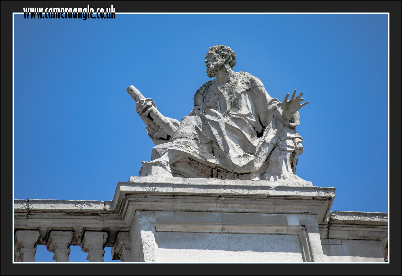
M 280 106 L 249 73 L 237 72 L 221 87 L 208 81 L 195 93 L 194 109 L 181 120 L 171 144 L 162 146 L 170 168 L 185 177 L 247 179 L 269 170 L 265 163 L 275 147 L 291 152 L 295 166 L 303 151 L 295 130 L 299 114 L 286 121 Z

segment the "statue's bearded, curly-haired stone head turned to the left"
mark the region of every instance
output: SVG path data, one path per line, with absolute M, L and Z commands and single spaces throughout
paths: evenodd
M 213 77 L 212 74 L 221 69 L 225 63 L 230 67 L 234 67 L 236 65 L 236 54 L 228 46 L 216 45 L 209 47 L 205 56 L 205 63 L 207 63 L 207 76 Z

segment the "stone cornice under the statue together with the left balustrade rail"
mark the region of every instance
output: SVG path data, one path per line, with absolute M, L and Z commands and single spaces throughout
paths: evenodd
M 335 188 L 273 185 L 279 181 L 162 177 L 130 177 L 130 180 L 141 182 L 119 182 L 112 201 L 16 199 L 14 215 L 21 219 L 28 213 L 66 218 L 73 214 L 77 218 L 114 214 L 122 218 L 127 204 L 132 202 L 146 210 L 315 213 L 323 220 L 335 197 Z

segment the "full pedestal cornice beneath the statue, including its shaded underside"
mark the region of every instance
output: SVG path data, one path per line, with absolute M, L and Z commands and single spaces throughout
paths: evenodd
M 251 212 L 273 212 L 275 208 L 285 213 L 317 212 L 319 213 L 317 219 L 324 220 L 335 191 L 334 188 L 323 187 L 276 187 L 273 185 L 277 183 L 276 181 L 264 181 L 267 182 L 267 186 L 261 185 L 261 181 L 171 177 L 130 177 L 130 181 L 135 182 L 119 182 L 113 201 L 105 202 L 105 205 L 113 209 L 119 208 L 117 203 L 121 202 L 123 197 L 135 193 L 138 196 L 140 194 L 146 196 L 145 198 L 136 197 L 135 205 L 139 209 L 148 209 L 152 206 L 152 210 L 243 209 Z M 226 191 L 227 185 L 235 186 L 236 193 Z M 169 197 L 160 197 L 161 195 L 169 195 Z M 281 197 L 289 197 L 293 200 L 282 200 Z M 311 201 L 313 198 L 315 200 Z

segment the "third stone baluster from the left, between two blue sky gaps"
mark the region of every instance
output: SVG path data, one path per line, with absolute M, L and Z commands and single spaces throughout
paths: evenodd
M 86 257 L 90 262 L 103 262 L 105 255 L 104 245 L 107 241 L 107 232 L 86 231 L 82 237 L 81 250 L 88 253 Z

